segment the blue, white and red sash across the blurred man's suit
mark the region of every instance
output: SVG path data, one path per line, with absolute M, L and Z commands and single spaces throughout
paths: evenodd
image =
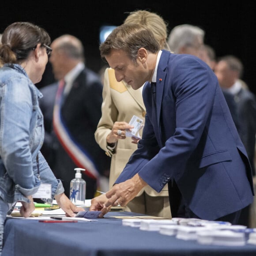
M 53 129 L 58 140 L 68 153 L 69 157 L 79 168 L 86 169 L 86 174 L 94 179 L 99 177 L 98 170 L 89 154 L 72 138 L 61 116 L 61 104 L 63 100 L 64 80 L 60 81 L 55 105 L 53 109 Z M 72 171 L 72 170 L 71 170 Z

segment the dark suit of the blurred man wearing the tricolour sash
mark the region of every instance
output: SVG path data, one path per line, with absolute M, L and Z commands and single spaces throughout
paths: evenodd
M 41 88 L 44 95 L 40 107 L 44 115 L 45 142 L 42 154 L 45 154 L 50 167 L 64 184 L 65 194 L 69 197 L 70 181 L 75 177 L 76 166 L 53 132 L 53 106 L 58 84 L 53 83 Z M 94 132 L 101 117 L 102 83 L 98 75 L 85 68 L 72 84 L 72 88 L 61 106 L 61 115 L 72 138 L 92 158 L 99 173 L 109 169 L 110 160 L 94 139 Z M 97 182 L 82 172 L 87 182 L 86 198 L 94 197 Z

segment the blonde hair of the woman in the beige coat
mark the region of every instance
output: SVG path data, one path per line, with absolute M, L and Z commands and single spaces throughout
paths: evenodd
M 160 15 L 144 10 L 132 11 L 124 20 L 124 24 L 139 24 L 146 26 L 146 28 L 151 30 L 154 34 L 155 39 L 160 45 L 160 49 L 169 50 L 169 45 L 167 44 L 168 24 Z

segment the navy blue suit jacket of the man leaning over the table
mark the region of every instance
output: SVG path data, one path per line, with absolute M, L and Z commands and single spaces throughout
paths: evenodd
M 175 181 L 186 206 L 209 220 L 252 203 L 252 170 L 214 72 L 163 50 L 156 82 L 156 107 L 150 83 L 143 88 L 143 137 L 116 183 L 138 173 L 158 192 L 168 183 L 175 199 Z

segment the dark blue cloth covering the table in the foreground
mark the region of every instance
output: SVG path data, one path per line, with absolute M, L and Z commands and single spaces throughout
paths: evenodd
M 139 214 L 109 212 L 94 222 L 44 223 L 8 218 L 2 256 L 255 256 L 256 245 L 200 245 L 157 231 L 123 226 L 113 216 Z

